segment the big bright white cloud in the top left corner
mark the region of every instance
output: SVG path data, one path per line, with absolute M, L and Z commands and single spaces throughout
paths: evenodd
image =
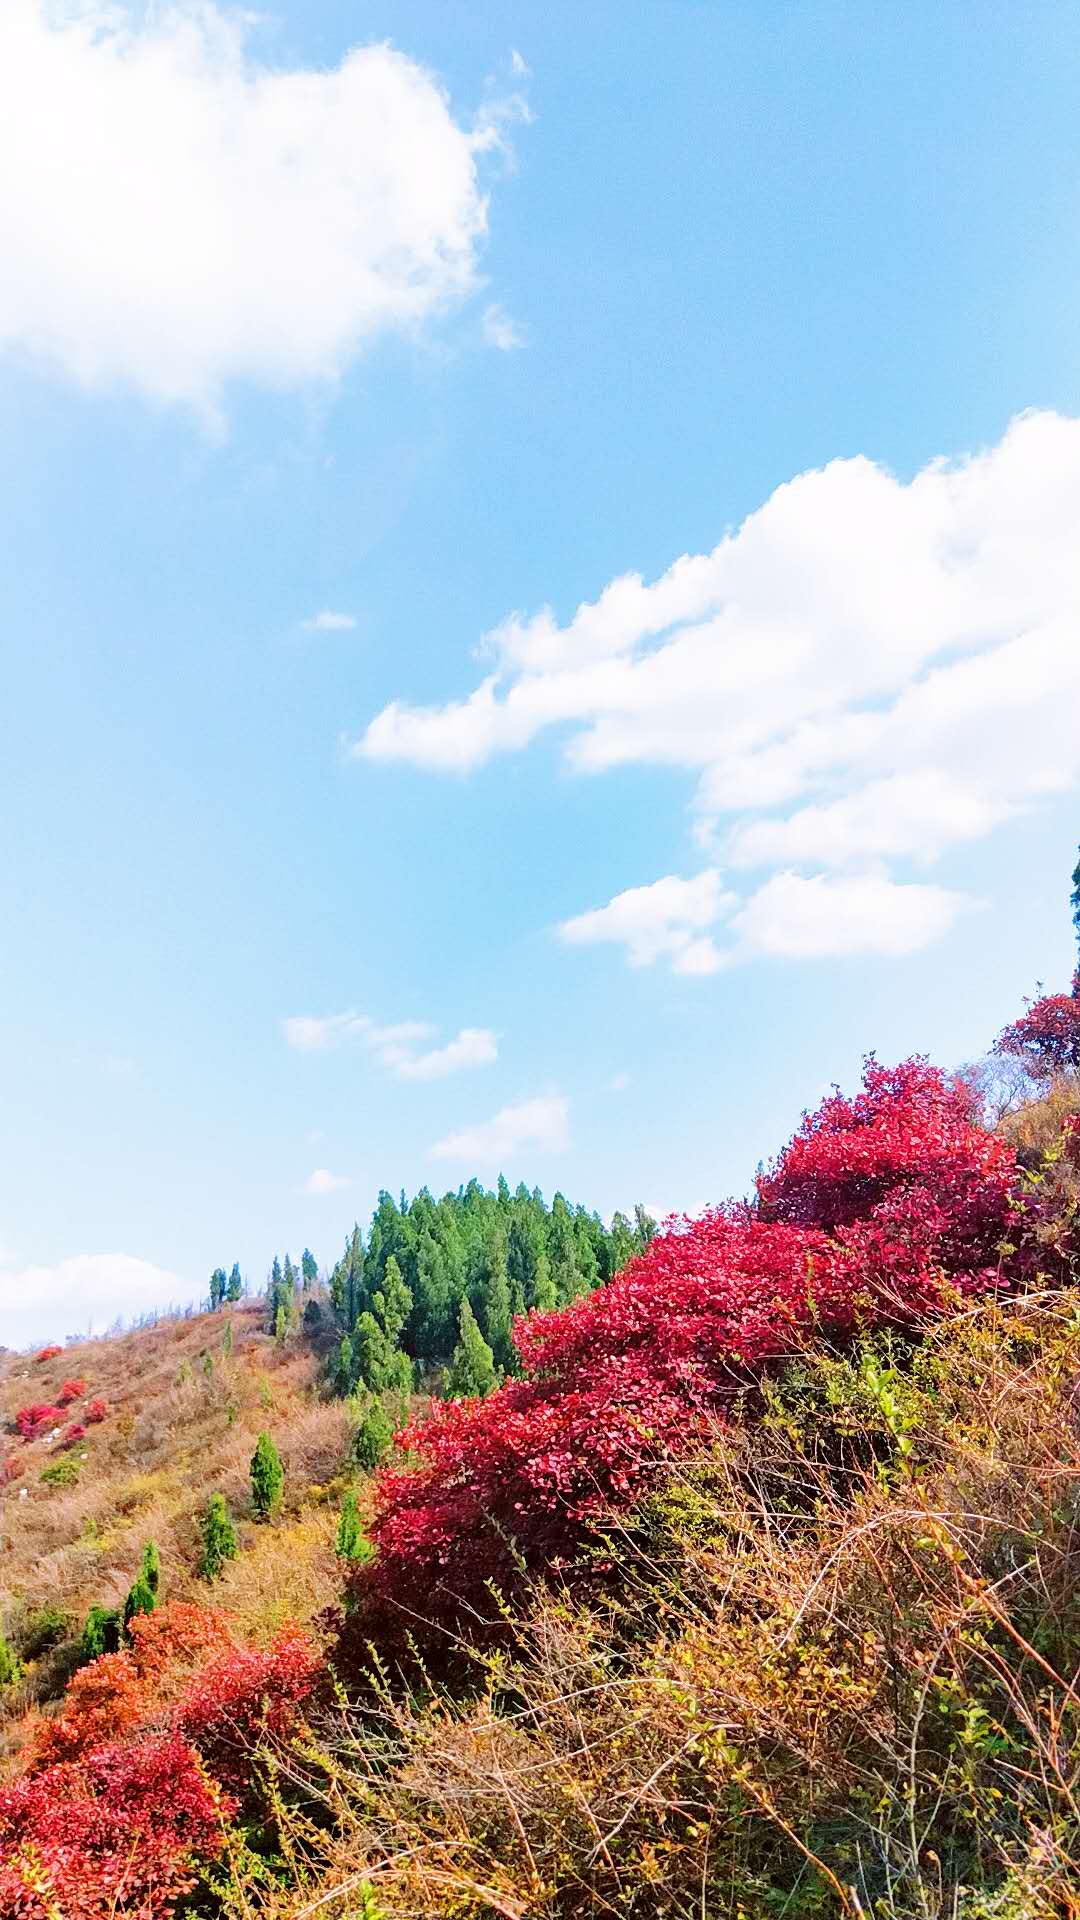
M 213 0 L 0 8 L 0 346 L 213 415 L 338 374 L 477 286 L 500 119 L 421 65 L 256 60 Z

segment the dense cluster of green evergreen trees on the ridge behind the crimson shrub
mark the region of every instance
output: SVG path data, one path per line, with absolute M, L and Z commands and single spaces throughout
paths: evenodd
M 336 1390 L 407 1394 L 417 1375 L 448 1369 L 450 1396 L 484 1394 L 515 1371 L 519 1313 L 603 1286 L 653 1233 L 644 1208 L 605 1227 L 563 1194 L 548 1208 L 538 1188 L 511 1192 L 505 1179 L 442 1200 L 425 1187 L 409 1204 L 382 1192 L 367 1242 L 354 1227 L 331 1275 Z M 271 1323 L 277 1308 L 271 1294 Z

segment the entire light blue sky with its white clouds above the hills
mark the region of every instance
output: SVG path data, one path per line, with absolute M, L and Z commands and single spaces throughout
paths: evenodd
M 1067 977 L 1072 4 L 8 0 L 0 88 L 0 1340 L 700 1208 Z

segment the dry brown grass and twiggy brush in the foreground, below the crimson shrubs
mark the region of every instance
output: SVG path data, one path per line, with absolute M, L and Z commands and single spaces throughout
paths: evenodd
M 1080 1920 L 1080 1294 L 807 1359 L 471 1697 L 281 1761 L 229 1920 Z

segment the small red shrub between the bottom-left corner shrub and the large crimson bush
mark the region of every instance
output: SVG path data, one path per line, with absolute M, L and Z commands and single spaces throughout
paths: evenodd
M 267 1738 L 288 1740 L 300 1709 L 327 1682 L 315 1645 L 288 1626 L 271 1647 L 233 1647 L 202 1668 L 179 1707 L 177 1724 L 217 1780 L 250 1784 L 250 1755 Z

